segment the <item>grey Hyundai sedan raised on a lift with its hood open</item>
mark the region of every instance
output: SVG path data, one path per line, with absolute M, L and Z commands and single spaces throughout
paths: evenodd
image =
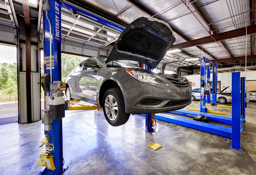
M 155 18 L 138 18 L 120 35 L 107 59 L 91 57 L 77 65 L 66 80 L 67 100 L 80 99 L 103 107 L 112 126 L 130 114 L 173 111 L 191 103 L 186 78 L 155 74 L 121 60 L 156 68 L 175 41 L 170 26 Z M 93 87 L 84 88 L 80 87 Z

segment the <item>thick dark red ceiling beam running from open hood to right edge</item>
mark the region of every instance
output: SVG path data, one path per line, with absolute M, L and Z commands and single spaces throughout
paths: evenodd
M 256 25 L 248 26 L 247 27 L 247 34 L 253 34 L 256 32 Z M 245 36 L 246 34 L 246 28 L 239 28 L 235 30 L 230 30 L 227 32 L 222 32 L 217 35 L 212 35 L 216 41 L 222 41 L 230 38 L 236 38 L 236 37 L 241 37 Z M 193 46 L 198 46 L 202 44 L 207 44 L 207 43 L 212 43 L 215 42 L 214 39 L 211 36 L 208 37 L 203 37 L 199 38 L 196 40 L 191 40 L 179 44 L 174 44 L 172 47 L 174 49 L 183 49 L 183 48 L 188 48 L 188 47 L 193 47 Z

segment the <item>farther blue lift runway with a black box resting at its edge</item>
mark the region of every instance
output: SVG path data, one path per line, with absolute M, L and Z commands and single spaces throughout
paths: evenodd
M 209 121 L 228 124 L 228 125 L 232 124 L 232 118 L 230 118 L 230 117 L 211 115 L 211 114 L 208 114 L 208 113 L 206 114 L 206 113 L 203 113 L 203 112 L 176 110 L 176 111 L 170 111 L 168 113 L 183 115 L 183 116 L 187 116 L 187 117 L 194 117 L 194 116 L 197 116 L 199 114 L 202 114 L 204 116 L 207 116 L 209 118 Z

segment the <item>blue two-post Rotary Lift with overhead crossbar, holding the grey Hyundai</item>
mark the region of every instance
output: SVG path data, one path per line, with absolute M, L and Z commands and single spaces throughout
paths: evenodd
M 48 5 L 48 4 L 49 5 Z M 65 6 L 64 6 L 65 5 Z M 48 18 L 46 17 L 46 12 L 44 10 L 43 13 L 43 36 L 44 36 L 44 57 L 52 55 L 52 82 L 61 80 L 61 8 L 67 8 L 71 11 L 76 11 L 83 16 L 97 21 L 105 26 L 109 26 L 119 31 L 123 31 L 124 28 L 120 27 L 112 22 L 109 22 L 105 19 L 102 19 L 98 16 L 88 13 L 76 6 L 72 6 L 68 3 L 61 2 L 58 0 L 48 0 L 43 1 L 43 9 L 48 9 Z M 49 25 L 51 24 L 51 28 Z M 51 36 L 51 44 L 50 44 L 50 36 Z M 51 49 L 50 49 L 51 45 Z M 50 51 L 51 50 L 51 51 Z M 50 53 L 51 52 L 51 53 Z M 53 64 L 54 63 L 54 64 Z M 50 73 L 50 68 L 45 63 L 44 65 L 44 73 Z M 45 92 L 45 96 L 50 96 L 50 92 Z M 146 116 L 146 124 L 145 131 L 153 131 L 151 126 L 151 114 L 147 114 Z M 49 143 L 54 145 L 54 149 L 50 151 L 50 154 L 53 155 L 54 166 L 56 169 L 50 170 L 45 168 L 43 171 L 39 172 L 39 175 L 60 175 L 67 168 L 67 165 L 64 165 L 63 158 L 63 146 L 62 146 L 62 119 L 53 120 L 51 123 L 52 130 L 45 131 L 45 135 L 48 135 Z

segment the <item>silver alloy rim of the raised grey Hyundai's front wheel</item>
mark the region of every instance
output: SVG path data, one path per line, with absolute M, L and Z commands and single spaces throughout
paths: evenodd
M 114 121 L 118 115 L 118 105 L 114 96 L 108 95 L 105 99 L 105 111 L 109 120 Z

